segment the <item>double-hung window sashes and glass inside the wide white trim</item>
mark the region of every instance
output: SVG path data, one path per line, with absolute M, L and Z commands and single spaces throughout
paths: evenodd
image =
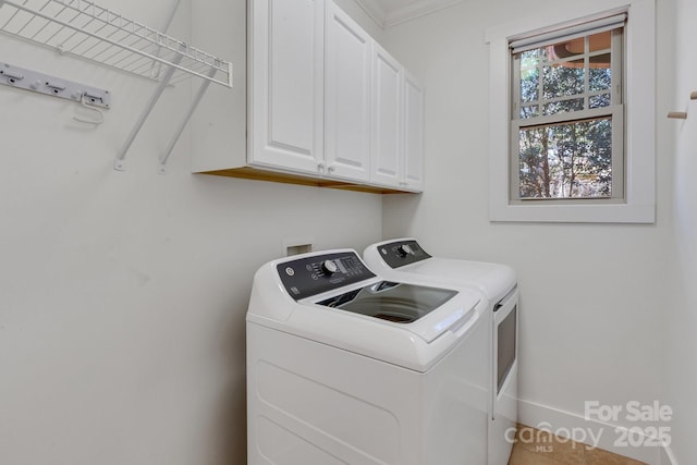
M 511 44 L 511 200 L 624 198 L 624 15 L 617 21 Z

